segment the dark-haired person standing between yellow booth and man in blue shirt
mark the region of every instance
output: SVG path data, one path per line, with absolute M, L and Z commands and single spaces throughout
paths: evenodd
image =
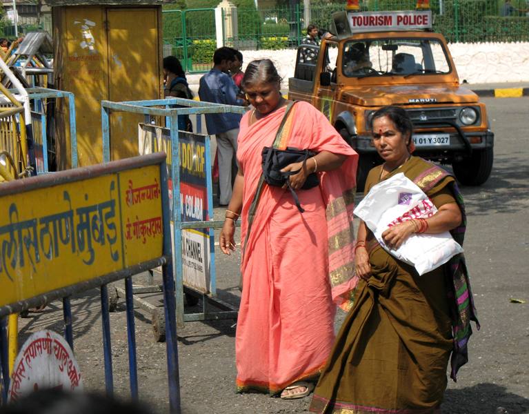
M 178 58 L 174 56 L 163 58 L 163 97 L 193 99 L 193 92 L 189 88 L 186 73 Z M 178 129 L 192 131 L 189 115 L 178 116 Z

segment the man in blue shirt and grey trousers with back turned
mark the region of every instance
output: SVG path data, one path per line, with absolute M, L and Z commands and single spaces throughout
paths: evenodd
M 239 89 L 227 74 L 235 55 L 230 48 L 219 48 L 213 55 L 213 68 L 200 78 L 199 97 L 201 101 L 225 105 L 245 104 L 237 99 Z M 219 154 L 219 186 L 221 205 L 228 205 L 232 197 L 232 162 L 237 153 L 237 135 L 242 115 L 223 113 L 206 114 L 206 126 L 210 135 L 217 139 Z

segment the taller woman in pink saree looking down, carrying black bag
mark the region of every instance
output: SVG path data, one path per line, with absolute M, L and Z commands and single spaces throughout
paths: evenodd
M 352 302 L 358 155 L 321 112 L 297 102 L 286 117 L 279 148 L 317 153 L 304 166 L 300 162 L 283 168 L 299 170 L 289 179 L 304 212 L 287 188 L 263 184 L 258 191 L 261 151 L 275 142 L 286 114 L 288 101 L 281 96 L 280 81 L 268 59 L 253 61 L 246 69 L 243 89 L 254 110 L 241 119 L 240 168 L 220 247 L 228 255 L 234 250 L 234 222 L 241 217 L 237 390 L 292 399 L 314 388 L 335 339 L 336 305 L 348 310 Z M 301 190 L 312 172 L 317 172 L 319 186 Z

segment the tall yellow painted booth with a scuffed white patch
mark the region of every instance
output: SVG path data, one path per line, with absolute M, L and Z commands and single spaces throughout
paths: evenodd
M 102 161 L 101 100 L 163 97 L 162 0 L 48 0 L 53 14 L 55 87 L 74 92 L 79 165 Z M 60 169 L 69 168 L 68 108 L 57 106 Z M 112 159 L 138 155 L 143 115 L 111 117 Z M 66 132 L 68 133 L 68 132 Z M 62 135 L 62 136 L 61 136 Z

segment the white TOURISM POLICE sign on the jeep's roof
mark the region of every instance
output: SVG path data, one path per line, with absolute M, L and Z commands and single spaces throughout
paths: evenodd
M 430 29 L 432 11 L 350 12 L 349 24 L 353 33 Z

